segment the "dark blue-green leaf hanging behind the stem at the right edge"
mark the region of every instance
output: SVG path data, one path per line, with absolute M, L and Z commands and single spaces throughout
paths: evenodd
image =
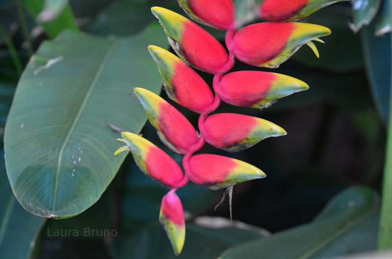
M 361 32 L 365 68 L 376 107 L 384 121 L 388 121 L 391 85 L 391 37 L 374 36 L 374 22 Z

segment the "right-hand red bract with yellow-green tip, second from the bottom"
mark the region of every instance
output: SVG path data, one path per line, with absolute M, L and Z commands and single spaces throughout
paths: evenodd
M 247 149 L 268 137 L 287 134 L 272 122 L 236 113 L 208 116 L 200 133 L 207 143 L 229 152 Z

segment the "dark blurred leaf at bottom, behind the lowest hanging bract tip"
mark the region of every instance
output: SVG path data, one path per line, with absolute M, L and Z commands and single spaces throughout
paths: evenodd
M 261 237 L 259 233 L 249 230 L 209 229 L 187 223 L 184 249 L 178 258 L 216 259 L 230 246 Z M 120 233 L 115 239 L 115 251 L 120 259 L 177 258 L 159 222 L 129 235 Z

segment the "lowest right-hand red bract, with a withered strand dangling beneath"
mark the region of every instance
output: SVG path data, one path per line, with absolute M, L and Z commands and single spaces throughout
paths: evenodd
M 185 173 L 194 183 L 212 190 L 266 177 L 266 174 L 255 166 L 214 154 L 192 156 L 189 160 L 189 169 Z

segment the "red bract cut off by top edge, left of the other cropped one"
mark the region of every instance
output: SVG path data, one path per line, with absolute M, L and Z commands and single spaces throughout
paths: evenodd
M 233 0 L 178 0 L 184 11 L 195 21 L 221 29 L 235 29 Z

